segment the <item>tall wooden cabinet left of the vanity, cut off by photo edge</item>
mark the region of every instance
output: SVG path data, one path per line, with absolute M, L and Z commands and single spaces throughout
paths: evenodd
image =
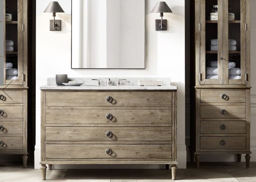
M 28 0 L 0 0 L 0 155 L 21 154 L 27 162 Z

